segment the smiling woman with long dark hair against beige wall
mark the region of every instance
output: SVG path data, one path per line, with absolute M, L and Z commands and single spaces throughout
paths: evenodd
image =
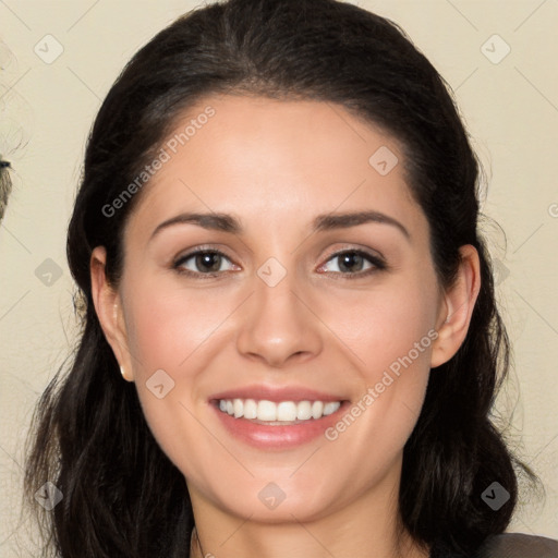
M 83 336 L 27 463 L 58 556 L 495 556 L 534 475 L 488 418 L 477 175 L 435 69 L 354 5 L 231 0 L 142 48 L 88 141 Z

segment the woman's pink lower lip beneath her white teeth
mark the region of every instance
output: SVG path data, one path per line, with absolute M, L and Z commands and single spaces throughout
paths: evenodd
M 343 401 L 335 413 L 286 426 L 269 426 L 254 423 L 247 418 L 234 418 L 229 413 L 223 413 L 218 408 L 218 402 L 214 402 L 211 407 L 225 428 L 236 438 L 256 448 L 289 449 L 324 436 L 325 430 L 339 420 L 349 404 L 349 401 Z

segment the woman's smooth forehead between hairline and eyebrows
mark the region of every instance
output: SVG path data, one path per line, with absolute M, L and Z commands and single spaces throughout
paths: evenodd
M 399 142 L 339 105 L 208 96 L 175 120 L 159 153 L 131 225 L 204 210 L 280 226 L 338 208 L 424 225 Z

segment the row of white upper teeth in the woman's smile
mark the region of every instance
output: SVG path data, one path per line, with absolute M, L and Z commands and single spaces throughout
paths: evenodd
M 281 401 L 275 403 L 265 399 L 221 399 L 219 409 L 234 418 L 248 418 L 264 422 L 292 423 L 294 421 L 317 420 L 335 413 L 340 401 Z

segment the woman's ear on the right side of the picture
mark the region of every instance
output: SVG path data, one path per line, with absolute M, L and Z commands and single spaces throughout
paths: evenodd
M 461 263 L 454 283 L 445 292 L 438 314 L 438 337 L 433 343 L 430 367 L 448 362 L 465 340 L 481 289 L 478 252 L 471 244 L 459 250 Z

